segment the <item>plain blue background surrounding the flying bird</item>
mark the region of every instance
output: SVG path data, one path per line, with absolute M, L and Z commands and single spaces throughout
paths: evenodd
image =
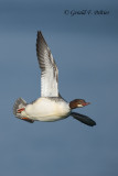
M 116 0 L 0 1 L 0 175 L 118 175 L 117 19 Z M 17 98 L 40 97 L 40 30 L 58 67 L 61 95 L 90 101 L 75 111 L 96 127 L 71 117 L 33 124 L 14 118 Z

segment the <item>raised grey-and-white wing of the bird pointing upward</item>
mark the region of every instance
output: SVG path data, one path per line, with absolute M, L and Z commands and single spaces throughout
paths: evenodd
M 36 55 L 41 68 L 41 97 L 58 97 L 58 69 L 41 31 L 37 32 Z

